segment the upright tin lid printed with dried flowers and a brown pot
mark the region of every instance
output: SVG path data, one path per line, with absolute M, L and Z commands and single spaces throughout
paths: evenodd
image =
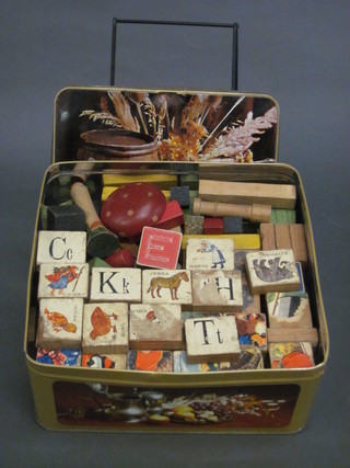
M 266 94 L 65 88 L 52 162 L 275 162 L 279 107 Z

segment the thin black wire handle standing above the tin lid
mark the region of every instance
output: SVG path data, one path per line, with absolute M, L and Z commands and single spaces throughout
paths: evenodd
M 122 24 L 155 24 L 166 26 L 201 26 L 201 27 L 223 27 L 232 30 L 232 80 L 231 88 L 233 91 L 238 89 L 238 24 L 237 23 L 202 23 L 186 21 L 148 21 L 148 20 L 118 20 L 113 19 L 112 31 L 112 57 L 110 57 L 110 85 L 115 85 L 116 76 L 116 50 L 117 50 L 117 25 Z

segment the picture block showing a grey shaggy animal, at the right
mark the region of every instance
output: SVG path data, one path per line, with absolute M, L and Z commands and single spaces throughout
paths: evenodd
M 301 284 L 292 250 L 248 252 L 246 272 L 253 294 L 296 290 Z

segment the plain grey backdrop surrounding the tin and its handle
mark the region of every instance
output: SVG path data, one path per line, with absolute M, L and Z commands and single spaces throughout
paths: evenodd
M 109 83 L 113 16 L 236 21 L 240 91 L 280 104 L 279 160 L 305 186 L 330 332 L 326 374 L 300 434 L 71 434 L 34 420 L 22 341 L 54 98 L 66 85 Z M 349 466 L 349 21 L 348 0 L 1 1 L 2 467 Z M 230 35 L 195 35 L 120 30 L 117 83 L 229 90 Z

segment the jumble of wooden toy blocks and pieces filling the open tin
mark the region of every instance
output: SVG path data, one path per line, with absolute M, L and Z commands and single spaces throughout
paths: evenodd
M 314 365 L 293 185 L 103 182 L 100 215 L 78 191 L 74 204 L 46 209 L 38 362 L 178 373 Z M 104 229 L 118 247 L 98 255 Z

